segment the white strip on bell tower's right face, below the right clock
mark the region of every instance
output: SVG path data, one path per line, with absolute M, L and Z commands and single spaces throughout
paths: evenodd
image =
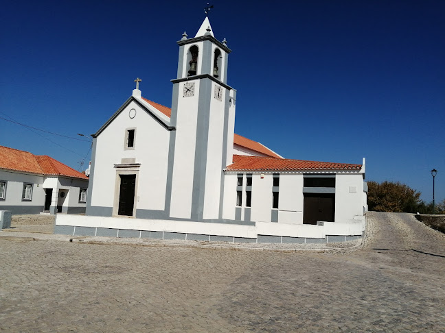
M 212 83 L 212 95 L 215 86 L 219 85 Z M 221 101 L 210 99 L 203 219 L 218 219 L 219 215 L 226 94 L 227 89 L 223 88 Z

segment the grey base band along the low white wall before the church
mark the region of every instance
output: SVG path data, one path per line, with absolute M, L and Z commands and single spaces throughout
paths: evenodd
M 107 229 L 103 227 L 74 227 L 69 225 L 56 225 L 54 234 L 73 236 L 105 236 L 122 238 L 152 238 L 152 239 L 179 239 L 179 240 L 202 240 L 207 242 L 229 242 L 229 243 L 277 243 L 277 244 L 321 244 L 333 242 L 345 242 L 357 240 L 362 236 L 326 236 L 326 238 L 303 238 L 258 235 L 258 238 L 243 238 L 231 236 L 185 234 L 182 232 L 157 232 L 146 230 Z

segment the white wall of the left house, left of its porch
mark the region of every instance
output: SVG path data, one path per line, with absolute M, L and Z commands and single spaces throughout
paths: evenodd
M 43 190 L 43 175 L 31 175 L 0 170 L 0 180 L 6 181 L 6 197 L 0 200 L 1 206 L 41 206 L 45 204 L 45 190 Z M 22 200 L 23 183 L 32 186 L 32 200 Z

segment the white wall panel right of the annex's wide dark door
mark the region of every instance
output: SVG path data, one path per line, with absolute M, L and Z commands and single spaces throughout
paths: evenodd
M 335 176 L 335 222 L 348 223 L 363 215 L 363 174 Z

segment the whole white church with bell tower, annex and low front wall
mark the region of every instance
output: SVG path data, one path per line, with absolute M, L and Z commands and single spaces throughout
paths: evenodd
M 133 94 L 93 134 L 86 216 L 54 232 L 86 236 L 323 243 L 361 237 L 363 164 L 282 158 L 234 134 L 237 92 L 208 18 L 179 45 L 172 108 Z M 151 98 L 151 97 L 150 97 Z

